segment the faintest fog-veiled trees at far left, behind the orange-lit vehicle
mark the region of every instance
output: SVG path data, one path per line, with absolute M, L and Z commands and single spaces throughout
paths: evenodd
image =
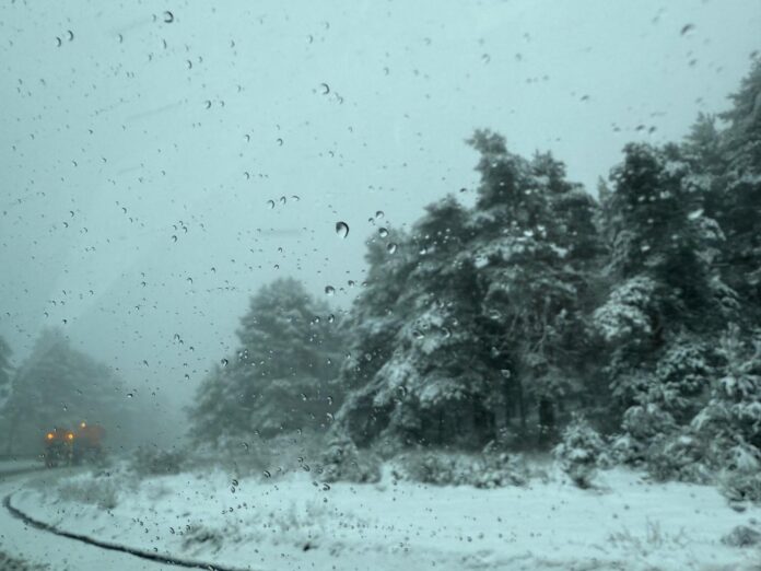
M 13 371 L 0 409 L 5 452 L 36 452 L 46 431 L 82 420 L 126 429 L 133 420 L 126 399 L 109 368 L 73 349 L 60 330 L 44 330 Z

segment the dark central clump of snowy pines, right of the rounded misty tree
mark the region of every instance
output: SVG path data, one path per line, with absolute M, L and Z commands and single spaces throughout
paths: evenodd
M 343 370 L 364 384 L 338 419 L 360 445 L 475 447 L 508 428 L 548 439 L 560 401 L 583 398 L 597 203 L 549 154 L 526 161 L 489 131 L 469 142 L 481 154 L 476 207 L 445 197 L 400 257 L 370 258 Z

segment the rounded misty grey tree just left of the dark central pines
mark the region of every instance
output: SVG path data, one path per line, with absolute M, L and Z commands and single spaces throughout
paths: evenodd
M 215 441 L 325 430 L 343 396 L 337 382 L 342 335 L 330 307 L 296 280 L 261 288 L 241 318 L 238 348 L 198 389 L 192 436 Z

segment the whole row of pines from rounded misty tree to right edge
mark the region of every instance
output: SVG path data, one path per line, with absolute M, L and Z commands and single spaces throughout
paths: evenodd
M 628 144 L 599 200 L 477 131 L 475 206 L 373 236 L 340 327 L 297 283 L 264 288 L 196 426 L 321 427 L 333 395 L 335 440 L 360 447 L 547 448 L 573 418 L 664 477 L 758 474 L 761 62 L 731 103 L 681 142 Z

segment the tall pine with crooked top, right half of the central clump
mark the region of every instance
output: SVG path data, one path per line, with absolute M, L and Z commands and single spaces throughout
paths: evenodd
M 506 373 L 505 416 L 526 432 L 536 415 L 540 440 L 549 441 L 561 407 L 584 400 L 579 372 L 592 349 L 585 322 L 602 254 L 597 205 L 549 154 L 526 161 L 489 131 L 470 142 L 481 152 L 471 247 L 492 364 Z

